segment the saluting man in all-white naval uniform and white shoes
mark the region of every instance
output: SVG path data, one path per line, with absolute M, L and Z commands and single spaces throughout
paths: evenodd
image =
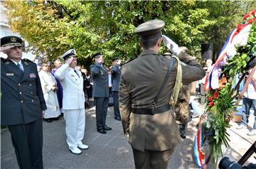
M 85 135 L 85 94 L 83 92 L 83 78 L 80 71 L 75 70 L 77 65 L 75 50 L 65 52 L 61 59 L 65 60 L 55 77 L 60 80 L 63 87 L 63 111 L 65 119 L 65 132 L 68 148 L 71 153 L 80 154 L 80 149 L 89 146 L 82 143 Z

